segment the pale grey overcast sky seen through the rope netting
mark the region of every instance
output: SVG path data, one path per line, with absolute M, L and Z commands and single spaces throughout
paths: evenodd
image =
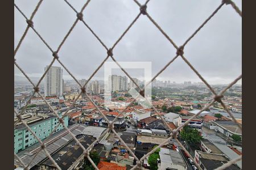
M 28 18 L 37 2 L 15 1 Z M 85 3 L 82 0 L 69 2 L 77 11 L 80 11 Z M 234 2 L 242 9 L 242 1 Z M 176 45 L 180 46 L 220 3 L 221 0 L 151 0 L 147 5 L 147 12 Z M 16 47 L 27 24 L 16 8 L 14 13 Z M 92 0 L 84 10 L 84 20 L 100 39 L 111 47 L 138 13 L 139 7 L 131 0 Z M 45 0 L 33 21 L 35 29 L 53 50 L 56 50 L 75 19 L 75 12 L 64 1 Z M 151 61 L 152 75 L 155 75 L 175 56 L 176 50 L 155 25 L 146 16 L 141 15 L 115 47 L 113 54 L 117 61 Z M 100 42 L 81 22 L 77 23 L 59 52 L 60 60 L 77 79 L 88 79 L 106 55 L 106 50 Z M 230 83 L 242 73 L 242 19 L 232 6 L 224 5 L 188 42 L 184 56 L 210 84 Z M 15 58 L 29 76 L 39 77 L 43 75 L 44 67 L 51 62 L 52 54 L 30 29 Z M 60 64 L 55 61 L 53 66 Z M 14 69 L 15 75 L 22 75 L 16 67 Z M 142 76 L 142 71 L 129 69 L 128 72 L 133 77 Z M 98 71 L 94 79 L 102 79 L 103 76 L 104 67 Z M 63 78 L 72 79 L 65 70 Z M 200 82 L 197 75 L 180 57 L 157 79 Z M 239 83 L 241 84 L 241 81 Z

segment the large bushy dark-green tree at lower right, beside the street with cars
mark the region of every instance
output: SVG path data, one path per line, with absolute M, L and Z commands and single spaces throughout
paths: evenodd
M 192 146 L 195 146 L 201 141 L 201 139 L 203 139 L 197 129 L 190 128 L 189 126 L 184 126 L 180 132 L 180 137 Z

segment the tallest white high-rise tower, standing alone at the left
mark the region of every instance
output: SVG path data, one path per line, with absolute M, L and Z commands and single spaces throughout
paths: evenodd
M 44 68 L 44 71 L 49 66 Z M 61 67 L 51 66 L 44 78 L 44 95 L 45 96 L 60 96 L 63 93 L 63 70 Z

